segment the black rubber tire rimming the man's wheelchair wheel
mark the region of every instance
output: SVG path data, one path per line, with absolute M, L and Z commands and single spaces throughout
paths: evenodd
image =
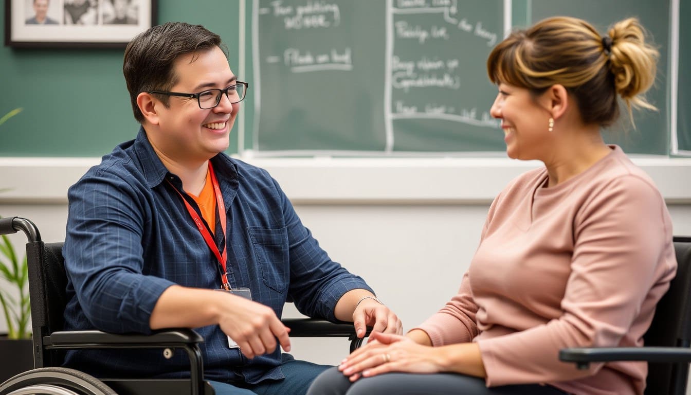
M 31 385 L 55 385 L 80 395 L 117 395 L 94 376 L 66 367 L 42 367 L 12 376 L 0 384 L 0 395 L 8 395 Z

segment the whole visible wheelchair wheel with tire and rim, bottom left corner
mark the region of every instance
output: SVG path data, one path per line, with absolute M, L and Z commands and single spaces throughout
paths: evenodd
M 13 376 L 0 384 L 0 395 L 117 395 L 111 387 L 83 371 L 43 367 Z

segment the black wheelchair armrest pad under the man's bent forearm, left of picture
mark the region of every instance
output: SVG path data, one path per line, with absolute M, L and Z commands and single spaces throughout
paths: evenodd
M 77 345 L 142 345 L 149 347 L 161 345 L 161 347 L 167 347 L 168 345 L 191 345 L 203 341 L 204 339 L 191 329 L 164 329 L 154 331 L 151 335 L 118 334 L 102 331 L 55 331 L 44 339 L 46 345 L 52 345 L 56 348 Z

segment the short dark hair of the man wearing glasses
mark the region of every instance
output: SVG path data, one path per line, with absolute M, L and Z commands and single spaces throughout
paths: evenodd
M 168 22 L 153 26 L 132 39 L 125 48 L 122 73 L 134 118 L 144 121 L 144 115 L 137 105 L 137 96 L 142 92 L 169 91 L 178 83 L 173 62 L 187 53 L 197 53 L 218 47 L 227 56 L 227 48 L 220 36 L 211 33 L 204 26 L 184 22 Z M 196 57 L 193 57 L 196 59 Z M 168 97 L 161 95 L 161 101 L 168 105 Z

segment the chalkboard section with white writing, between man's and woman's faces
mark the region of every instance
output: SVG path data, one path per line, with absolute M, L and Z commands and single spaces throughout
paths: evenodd
M 252 149 L 500 151 L 484 59 L 503 1 L 253 1 Z

